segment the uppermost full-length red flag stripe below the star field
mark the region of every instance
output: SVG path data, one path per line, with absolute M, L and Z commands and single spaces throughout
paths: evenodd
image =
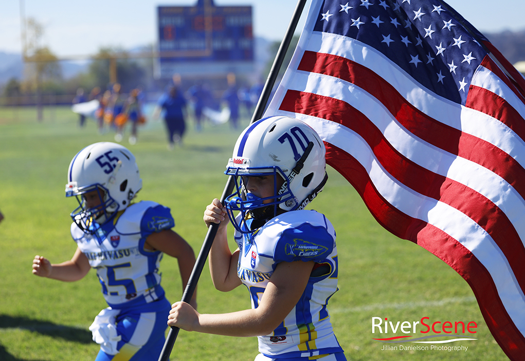
M 359 86 L 381 101 L 409 132 L 491 170 L 525 198 L 525 169 L 516 160 L 485 140 L 428 117 L 408 104 L 390 83 L 370 69 L 339 56 L 305 51 L 298 70 L 334 76 Z

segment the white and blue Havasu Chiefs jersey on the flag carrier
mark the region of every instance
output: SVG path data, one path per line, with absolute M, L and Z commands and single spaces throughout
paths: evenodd
M 249 226 L 249 221 L 247 225 Z M 258 336 L 259 352 L 271 358 L 316 357 L 342 353 L 327 304 L 338 290 L 335 231 L 316 211 L 290 211 L 272 218 L 253 234 L 235 233 L 237 274 L 257 308 L 279 262 L 316 262 L 296 307 L 269 335 Z

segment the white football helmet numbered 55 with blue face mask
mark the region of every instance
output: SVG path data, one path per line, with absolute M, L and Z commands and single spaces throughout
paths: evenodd
M 87 234 L 126 209 L 142 188 L 131 151 L 107 141 L 79 151 L 69 164 L 67 177 L 66 196 L 76 196 L 79 204 L 71 218 Z

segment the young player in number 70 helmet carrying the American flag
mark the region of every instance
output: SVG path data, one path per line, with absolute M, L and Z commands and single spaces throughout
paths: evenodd
M 324 155 L 318 134 L 295 118 L 273 116 L 244 130 L 225 172 L 236 191 L 224 205 L 213 200 L 204 222 L 219 224 L 209 253 L 215 287 L 230 291 L 244 283 L 252 307 L 199 314 L 176 302 L 170 326 L 257 336 L 256 361 L 345 360 L 327 310 L 337 291 L 335 231 L 323 214 L 304 210 L 327 181 Z M 229 222 L 238 247 L 233 254 Z

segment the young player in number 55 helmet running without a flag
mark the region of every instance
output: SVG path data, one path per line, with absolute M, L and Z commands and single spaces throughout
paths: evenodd
M 134 202 L 142 179 L 127 148 L 92 144 L 71 160 L 67 177 L 66 196 L 76 196 L 79 203 L 71 213 L 77 250 L 60 264 L 35 256 L 33 274 L 77 281 L 95 268 L 109 305 L 89 327 L 100 344 L 96 361 L 156 360 L 171 308 L 161 286 L 160 260 L 164 253 L 177 258 L 185 287 L 195 263 L 193 249 L 172 231 L 169 208 Z M 195 300 L 194 294 L 194 308 Z

